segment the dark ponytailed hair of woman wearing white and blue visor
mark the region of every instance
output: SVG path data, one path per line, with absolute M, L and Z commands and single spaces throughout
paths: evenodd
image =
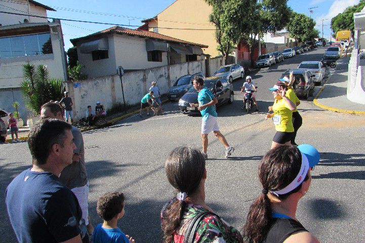
M 259 179 L 263 191 L 277 191 L 288 186 L 298 175 L 302 165 L 302 155 L 295 146 L 279 146 L 268 151 L 261 160 Z M 305 180 L 308 180 L 308 175 Z M 279 195 L 285 199 L 298 192 L 300 184 L 294 190 Z M 261 193 L 250 207 L 244 226 L 244 235 L 249 243 L 261 243 L 265 240 L 271 226 L 271 205 L 267 193 Z M 273 195 L 273 194 L 272 194 Z

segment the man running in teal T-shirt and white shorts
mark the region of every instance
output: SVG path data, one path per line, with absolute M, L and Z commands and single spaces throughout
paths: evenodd
M 201 138 L 202 138 L 202 154 L 208 158 L 208 134 L 213 131 L 214 135 L 221 141 L 226 148 L 225 157 L 228 158 L 234 148 L 229 146 L 226 138 L 221 134 L 218 127 L 218 114 L 216 112 L 215 104 L 218 103 L 217 98 L 204 88 L 204 80 L 199 76 L 193 77 L 193 86 L 195 90 L 199 91 L 198 104 L 190 104 L 191 107 L 198 107 L 201 113 Z

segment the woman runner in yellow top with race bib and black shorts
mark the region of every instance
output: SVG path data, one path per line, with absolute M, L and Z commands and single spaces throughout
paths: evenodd
M 272 110 L 274 113 L 268 113 L 266 119 L 272 118 L 275 125 L 276 134 L 272 139 L 271 149 L 280 145 L 291 145 L 290 140 L 294 135 L 294 127 L 292 122 L 293 110 L 297 106 L 286 96 L 285 85 L 274 85 L 269 89 L 274 95 L 274 104 Z

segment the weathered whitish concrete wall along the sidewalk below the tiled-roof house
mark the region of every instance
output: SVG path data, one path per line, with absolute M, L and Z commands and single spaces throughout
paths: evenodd
M 162 94 L 166 94 L 177 78 L 196 72 L 205 72 L 205 60 L 127 72 L 122 77 L 126 103 L 138 104 L 152 81 L 157 82 Z M 118 75 L 91 78 L 77 83 L 66 82 L 66 85 L 74 104 L 75 119 L 84 117 L 87 106 L 94 107 L 97 101 L 100 101 L 106 110 L 113 103 L 123 103 Z

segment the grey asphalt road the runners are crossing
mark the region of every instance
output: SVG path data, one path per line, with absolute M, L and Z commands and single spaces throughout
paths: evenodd
M 207 160 L 207 204 L 237 228 L 246 220 L 251 201 L 261 193 L 257 169 L 271 146 L 275 133 L 265 121 L 272 87 L 281 73 L 301 61 L 320 60 L 320 48 L 286 59 L 261 70 L 253 70 L 253 82 L 262 112 L 247 115 L 240 110 L 243 80 L 234 82 L 235 101 L 219 107 L 219 125 L 235 151 L 224 158 L 224 147 L 211 134 Z M 331 72 L 329 72 L 331 75 Z M 316 90 L 319 88 L 317 87 Z M 96 200 L 105 192 L 121 191 L 126 196 L 126 215 L 118 226 L 137 242 L 161 242 L 159 213 L 174 195 L 164 162 L 175 147 L 200 149 L 200 117 L 179 113 L 177 103 L 167 103 L 161 116 L 142 119 L 132 116 L 105 129 L 85 132 L 86 161 L 90 180 L 90 215 L 101 222 Z M 311 187 L 298 206 L 297 218 L 320 242 L 363 242 L 365 229 L 364 180 L 365 119 L 363 116 L 323 111 L 310 101 L 298 107 L 303 126 L 297 143 L 318 148 L 321 161 L 312 173 Z M 31 156 L 25 142 L 0 145 L 0 225 L 2 242 L 15 242 L 4 204 L 4 192 L 13 177 L 29 168 Z

